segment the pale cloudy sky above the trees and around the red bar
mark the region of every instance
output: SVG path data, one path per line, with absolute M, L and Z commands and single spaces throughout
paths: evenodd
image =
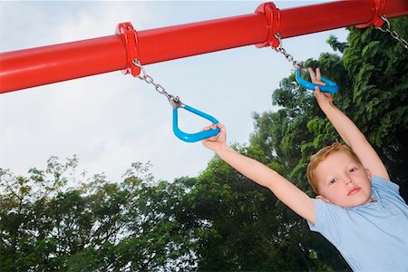
M 327 1 L 326 1 L 327 2 Z M 0 1 L 0 52 L 112 35 L 131 22 L 138 31 L 255 12 L 262 1 Z M 276 1 L 278 8 L 312 1 Z M 302 24 L 302 18 L 294 18 Z M 326 40 L 345 41 L 345 29 L 283 40 L 296 60 L 334 53 Z M 277 111 L 271 94 L 293 72 L 286 58 L 253 45 L 145 66 L 166 92 L 227 127 L 228 144 L 248 143 L 253 113 Z M 24 80 L 24 78 L 22 78 Z M 56 156 L 77 155 L 79 169 L 119 181 L 132 162 L 151 162 L 157 180 L 195 177 L 212 151 L 180 141 L 172 109 L 154 88 L 121 72 L 103 73 L 0 94 L 0 168 L 26 175 Z M 180 129 L 209 124 L 180 110 Z

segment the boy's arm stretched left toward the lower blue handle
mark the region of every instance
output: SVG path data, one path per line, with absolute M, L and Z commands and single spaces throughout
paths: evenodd
M 216 125 L 209 128 L 215 129 Z M 217 125 L 221 130 L 219 135 L 202 141 L 203 145 L 215 151 L 221 160 L 226 161 L 235 170 L 246 176 L 249 180 L 267 187 L 288 208 L 295 211 L 299 216 L 315 224 L 315 206 L 306 193 L 298 189 L 293 183 L 279 175 L 276 171 L 269 169 L 257 160 L 248 158 L 238 151 L 234 151 L 226 144 L 225 127 Z

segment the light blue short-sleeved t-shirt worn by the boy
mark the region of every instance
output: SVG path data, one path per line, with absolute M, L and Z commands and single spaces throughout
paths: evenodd
M 316 224 L 354 271 L 408 271 L 408 206 L 399 186 L 372 177 L 374 202 L 341 208 L 313 199 Z

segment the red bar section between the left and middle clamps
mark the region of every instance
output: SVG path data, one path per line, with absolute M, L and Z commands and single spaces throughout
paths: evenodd
M 261 43 L 267 39 L 267 19 L 241 15 L 140 31 L 138 36 L 141 63 L 159 63 Z

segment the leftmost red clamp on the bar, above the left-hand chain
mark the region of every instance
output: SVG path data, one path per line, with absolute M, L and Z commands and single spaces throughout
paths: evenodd
M 122 70 L 121 73 L 131 73 L 133 76 L 139 75 L 141 68 L 132 63 L 134 59 L 139 59 L 138 34 L 136 30 L 134 30 L 130 22 L 127 22 L 118 24 L 115 33 L 121 35 L 121 40 L 126 46 L 126 69 Z

